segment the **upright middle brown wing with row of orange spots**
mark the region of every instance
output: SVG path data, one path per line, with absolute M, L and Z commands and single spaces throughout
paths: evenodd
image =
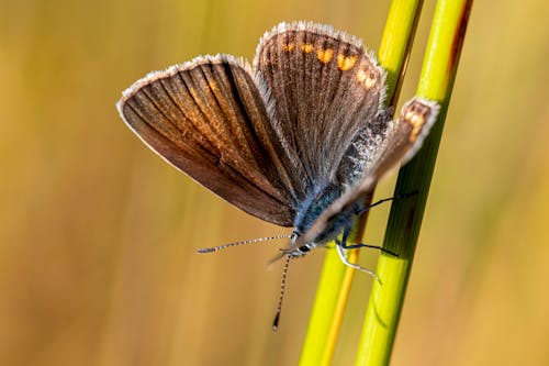
M 378 121 L 384 70 L 359 40 L 305 22 L 266 33 L 254 65 L 276 101 L 277 133 L 301 164 L 303 190 L 336 181 L 347 148 Z

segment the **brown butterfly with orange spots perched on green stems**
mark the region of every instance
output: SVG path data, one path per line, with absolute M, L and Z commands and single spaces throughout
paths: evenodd
M 393 122 L 385 77 L 357 37 L 280 23 L 251 65 L 197 57 L 137 80 L 117 109 L 177 169 L 249 214 L 293 228 L 280 256 L 336 240 L 352 266 L 343 253 L 369 209 L 363 198 L 417 152 L 438 113 L 436 102 L 414 98 Z

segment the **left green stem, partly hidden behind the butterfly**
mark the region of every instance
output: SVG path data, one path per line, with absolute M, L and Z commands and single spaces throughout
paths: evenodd
M 390 106 L 396 102 L 396 93 L 402 84 L 401 78 L 404 74 L 422 3 L 423 0 L 395 0 L 391 4 L 379 53 L 380 64 L 388 71 L 385 103 Z M 371 200 L 371 197 L 368 200 Z M 365 214 L 360 219 L 351 240 L 362 237 L 367 217 Z M 356 263 L 358 249 L 349 251 L 348 259 Z M 355 269 L 341 263 L 336 251 L 328 251 L 301 353 L 301 366 L 330 364 L 354 273 Z

